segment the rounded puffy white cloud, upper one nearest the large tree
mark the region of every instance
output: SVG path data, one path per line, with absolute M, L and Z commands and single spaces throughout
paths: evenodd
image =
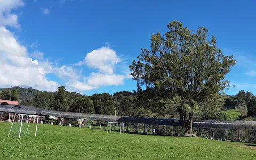
M 116 51 L 109 47 L 101 47 L 88 53 L 83 61 L 79 61 L 76 66 L 86 65 L 88 67 L 99 69 L 101 73 L 114 73 L 114 66 L 121 62 L 116 55 Z

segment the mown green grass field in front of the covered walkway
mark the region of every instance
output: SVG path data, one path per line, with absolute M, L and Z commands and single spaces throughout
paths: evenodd
M 38 124 L 37 137 L 8 138 L 10 126 L 0 122 L 0 159 L 256 159 L 244 143 L 49 124 Z

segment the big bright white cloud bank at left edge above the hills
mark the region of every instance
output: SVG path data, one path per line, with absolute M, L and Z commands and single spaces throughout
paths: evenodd
M 51 73 L 51 63 L 29 58 L 26 47 L 20 45 L 5 27 L 0 27 L 0 58 L 1 87 L 31 86 L 46 91 L 57 89 L 58 83 L 46 78 L 46 74 Z

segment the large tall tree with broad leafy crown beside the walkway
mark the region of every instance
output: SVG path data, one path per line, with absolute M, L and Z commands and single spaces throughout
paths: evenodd
M 172 21 L 167 28 L 164 36 L 159 32 L 152 35 L 151 50 L 141 49 L 138 61 L 134 60 L 130 66 L 131 75 L 139 85 L 179 97 L 180 106 L 175 110 L 186 132 L 191 133 L 197 103 L 229 85 L 225 75 L 235 65 L 235 60 L 233 55 L 222 53 L 215 37 L 209 38 L 204 27 L 194 33 L 181 22 Z M 189 115 L 187 125 L 186 114 Z

